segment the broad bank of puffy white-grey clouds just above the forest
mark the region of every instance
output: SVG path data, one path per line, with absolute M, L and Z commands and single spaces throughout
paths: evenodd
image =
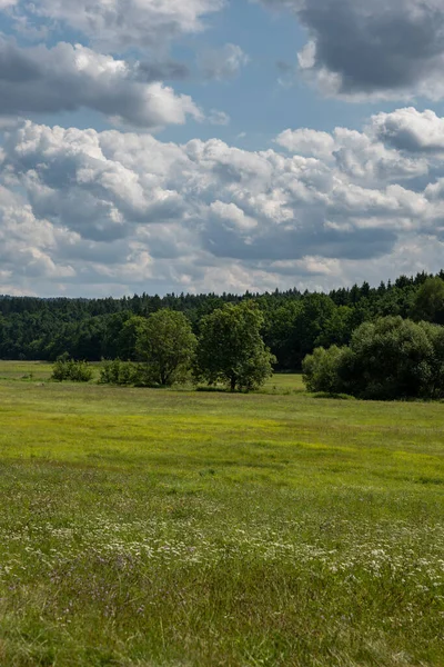
M 282 151 L 23 122 L 1 155 L 0 281 L 95 293 L 319 287 L 379 281 L 408 257 L 412 270 L 435 268 L 416 246 L 433 247 L 440 268 L 442 158 L 432 140 L 396 147 L 381 128 L 412 118 L 414 133 L 417 119 L 391 116 L 362 132 L 287 130 Z

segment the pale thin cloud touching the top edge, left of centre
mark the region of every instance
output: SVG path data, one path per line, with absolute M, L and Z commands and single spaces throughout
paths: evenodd
M 8 0 L 2 0 L 8 2 Z M 129 47 L 164 50 L 171 40 L 200 32 L 224 0 L 16 0 L 17 16 L 69 26 L 110 51 Z M 1 8 L 1 6 L 0 6 Z

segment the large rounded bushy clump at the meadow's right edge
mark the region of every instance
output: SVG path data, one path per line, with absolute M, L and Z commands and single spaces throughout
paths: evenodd
M 444 328 L 401 317 L 365 322 L 350 347 L 319 348 L 305 358 L 310 391 L 360 398 L 441 398 L 444 396 Z

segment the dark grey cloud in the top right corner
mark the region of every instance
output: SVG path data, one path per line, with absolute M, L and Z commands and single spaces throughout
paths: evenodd
M 303 74 L 351 100 L 444 97 L 442 0 L 261 0 L 309 32 Z

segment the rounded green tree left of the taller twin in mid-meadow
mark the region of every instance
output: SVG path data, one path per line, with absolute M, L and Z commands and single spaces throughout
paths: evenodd
M 144 384 L 171 387 L 185 381 L 194 359 L 196 339 L 183 312 L 159 310 L 138 330 L 135 350 L 144 362 Z

